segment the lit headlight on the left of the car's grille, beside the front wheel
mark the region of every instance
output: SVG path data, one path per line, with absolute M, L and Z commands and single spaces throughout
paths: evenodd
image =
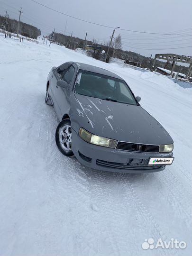
M 106 146 L 106 147 L 110 147 L 110 148 L 115 148 L 115 146 L 117 144 L 117 140 L 104 138 L 104 137 L 100 137 L 100 136 L 91 134 L 90 132 L 86 131 L 83 128 L 79 129 L 79 136 L 86 142 L 94 144 L 94 145 L 98 145 L 98 146 Z

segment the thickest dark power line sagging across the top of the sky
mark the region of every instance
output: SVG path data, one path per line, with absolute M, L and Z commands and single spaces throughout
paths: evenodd
M 77 20 L 81 20 L 81 21 L 84 21 L 84 22 L 86 22 L 86 23 L 90 23 L 90 24 L 93 24 L 93 25 L 101 26 L 101 27 L 114 28 L 114 27 L 110 27 L 110 26 L 103 25 L 103 24 L 91 22 L 91 21 L 88 21 L 88 20 L 85 20 L 85 19 L 77 18 L 77 17 L 74 17 L 74 16 L 72 16 L 72 15 L 68 15 L 68 14 L 66 14 L 66 13 L 64 13 L 64 12 L 55 10 L 55 9 L 53 9 L 53 8 L 50 8 L 50 7 L 46 6 L 46 5 L 44 5 L 44 4 L 41 4 L 41 3 L 39 3 L 39 2 L 37 2 L 37 1 L 35 1 L 35 0 L 31 0 L 31 1 L 33 1 L 33 2 L 35 2 L 35 3 L 37 3 L 37 4 L 39 4 L 39 5 L 41 5 L 41 6 L 45 7 L 45 8 L 47 8 L 47 9 L 53 10 L 53 11 L 55 11 L 55 12 L 57 12 L 57 13 L 63 14 L 63 15 L 65 15 L 65 16 L 67 16 L 67 17 L 70 17 L 70 18 L 74 18 L 74 19 L 77 19 Z M 152 33 L 152 32 L 136 31 L 136 30 L 123 29 L 123 28 L 119 28 L 119 30 L 130 31 L 130 32 L 135 32 L 135 33 L 152 34 L 152 35 L 192 36 L 192 35 L 189 35 L 189 34 L 187 34 L 187 35 L 183 35 L 183 34 L 182 34 L 182 35 L 181 35 L 181 34 L 167 34 L 167 33 Z

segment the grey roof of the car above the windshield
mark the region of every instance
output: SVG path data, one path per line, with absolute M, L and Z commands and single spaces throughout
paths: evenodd
M 104 68 L 100 68 L 100 67 L 92 66 L 89 64 L 80 63 L 80 62 L 75 62 L 75 64 L 79 66 L 79 69 L 90 71 L 93 73 L 99 73 L 99 74 L 103 74 L 103 75 L 107 75 L 113 78 L 123 80 L 119 75 L 116 75 L 115 73 L 112 73 L 109 70 L 106 70 Z

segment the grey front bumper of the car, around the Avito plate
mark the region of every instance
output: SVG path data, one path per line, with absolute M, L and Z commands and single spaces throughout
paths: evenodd
M 92 145 L 85 142 L 72 129 L 72 150 L 82 165 L 118 173 L 153 173 L 165 169 L 165 165 L 148 166 L 150 157 L 172 157 L 173 153 L 146 153 L 123 151 Z

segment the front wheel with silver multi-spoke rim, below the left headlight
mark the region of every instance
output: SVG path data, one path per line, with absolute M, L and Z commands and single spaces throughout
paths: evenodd
M 72 128 L 69 119 L 65 119 L 58 124 L 55 132 L 55 141 L 62 154 L 73 156 Z

